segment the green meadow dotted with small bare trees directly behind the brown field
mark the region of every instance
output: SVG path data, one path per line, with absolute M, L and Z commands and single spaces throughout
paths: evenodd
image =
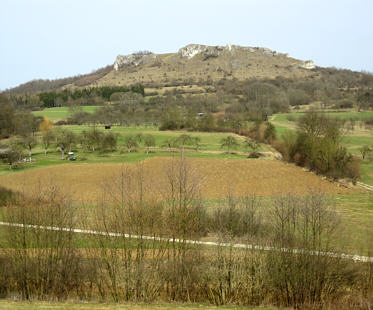
M 63 126 L 63 128 L 74 131 L 77 135 L 80 134 L 83 130 L 90 130 L 90 126 Z M 104 131 L 104 127 L 100 126 L 100 130 Z M 61 160 L 61 153 L 57 151 L 56 146 L 52 146 L 49 149 L 47 156 L 44 154 L 44 150 L 41 145 L 38 145 L 33 150 L 33 161 L 30 163 L 21 163 L 19 164 L 20 169 L 12 169 L 5 164 L 0 165 L 0 175 L 24 171 L 25 169 L 40 168 L 50 165 L 58 165 L 63 163 L 74 164 L 77 162 L 84 163 L 100 163 L 100 162 L 136 162 L 142 161 L 150 157 L 159 157 L 159 156 L 180 156 L 181 149 L 168 150 L 166 145 L 166 140 L 170 138 L 177 138 L 182 134 L 188 134 L 192 137 L 200 137 L 201 142 L 198 152 L 195 150 L 195 146 L 186 145 L 185 146 L 185 156 L 187 157 L 199 157 L 199 158 L 247 158 L 247 151 L 241 145 L 240 147 L 231 150 L 232 154 L 227 154 L 226 148 L 221 148 L 221 140 L 227 137 L 228 133 L 209 133 L 209 132 L 185 132 L 185 131 L 159 131 L 155 127 L 121 127 L 114 126 L 110 130 L 111 132 L 118 133 L 118 147 L 114 152 L 91 152 L 81 148 L 79 145 L 75 145 L 72 150 L 75 152 L 77 160 L 75 162 L 69 162 L 66 160 Z M 150 153 L 146 154 L 146 149 L 143 145 L 139 145 L 136 149 L 132 150 L 130 153 L 127 151 L 124 146 L 124 140 L 127 135 L 137 135 L 137 134 L 151 134 L 156 140 L 156 145 L 154 148 L 151 148 Z M 236 136 L 242 144 L 244 138 Z M 260 146 L 260 151 L 268 151 L 268 146 L 262 144 Z

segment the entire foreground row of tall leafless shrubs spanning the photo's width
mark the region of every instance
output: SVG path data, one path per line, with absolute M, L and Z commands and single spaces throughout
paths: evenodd
M 372 263 L 327 254 L 340 250 L 341 226 L 322 195 L 271 201 L 228 196 L 209 208 L 185 161 L 173 160 L 163 172 L 168 181 L 161 196 L 145 186 L 148 176 L 139 165 L 107 181 L 95 207 L 75 208 L 53 184 L 35 197 L 8 202 L 3 221 L 37 226 L 2 228 L 1 296 L 298 309 L 372 306 Z M 102 233 L 74 233 L 76 227 Z M 207 236 L 218 245 L 188 241 Z

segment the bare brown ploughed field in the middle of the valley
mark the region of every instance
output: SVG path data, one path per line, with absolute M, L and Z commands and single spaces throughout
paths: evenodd
M 62 189 L 74 200 L 97 201 L 103 193 L 139 188 L 147 195 L 169 192 L 170 175 L 179 173 L 179 160 L 151 158 L 142 163 L 63 164 L 0 177 L 0 185 L 30 194 L 50 187 Z M 311 191 L 349 194 L 356 190 L 337 186 L 291 164 L 272 160 L 187 159 L 188 180 L 202 198 L 232 196 L 302 195 Z M 123 178 L 121 177 L 123 176 Z

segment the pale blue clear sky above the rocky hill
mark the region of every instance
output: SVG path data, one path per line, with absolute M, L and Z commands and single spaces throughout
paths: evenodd
M 373 72 L 373 0 L 1 0 L 0 90 L 190 43 Z

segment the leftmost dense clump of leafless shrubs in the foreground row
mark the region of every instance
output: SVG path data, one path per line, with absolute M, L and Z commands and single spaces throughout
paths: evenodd
M 74 227 L 73 208 L 57 188 L 40 190 L 32 198 L 19 195 L 3 216 L 7 222 L 36 225 L 4 227 L 2 254 L 9 264 L 7 276 L 10 287 L 22 298 L 66 298 L 81 285 L 74 234 L 62 229 Z M 50 231 L 40 226 L 61 229 Z

